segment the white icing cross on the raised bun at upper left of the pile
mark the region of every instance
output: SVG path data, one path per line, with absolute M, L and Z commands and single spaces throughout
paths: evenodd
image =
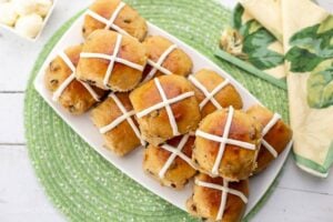
M 111 73 L 112 73 L 112 70 L 113 70 L 113 67 L 114 67 L 114 62 L 125 64 L 125 65 L 128 65 L 132 69 L 139 70 L 141 72 L 143 71 L 143 68 L 144 68 L 141 64 L 138 64 L 138 63 L 134 63 L 134 62 L 131 62 L 131 61 L 128 61 L 128 60 L 124 60 L 122 58 L 117 57 L 119 51 L 120 51 L 121 41 L 122 41 L 122 36 L 118 33 L 117 34 L 117 41 L 115 41 L 114 49 L 113 49 L 113 53 L 111 56 L 103 54 L 103 53 L 92 53 L 92 52 L 81 52 L 80 53 L 81 58 L 104 59 L 104 60 L 110 61 L 109 67 L 107 69 L 107 73 L 105 73 L 104 79 L 103 79 L 103 85 L 107 89 L 109 89 L 108 83 L 109 83 L 109 80 L 111 78 Z

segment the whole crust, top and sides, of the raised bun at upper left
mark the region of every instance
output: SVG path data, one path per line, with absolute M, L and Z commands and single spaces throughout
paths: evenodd
M 83 44 L 82 52 L 102 53 L 111 56 L 115 48 L 119 33 L 108 30 L 92 32 Z M 144 47 L 131 37 L 122 36 L 118 57 L 135 64 L 145 65 L 147 57 Z M 111 77 L 107 83 L 103 80 L 110 61 L 98 58 L 80 58 L 77 78 L 98 88 L 124 92 L 132 90 L 141 80 L 142 71 L 127 64 L 114 62 Z

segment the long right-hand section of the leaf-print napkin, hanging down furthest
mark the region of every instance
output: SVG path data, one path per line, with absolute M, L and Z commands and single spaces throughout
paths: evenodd
M 282 0 L 281 9 L 295 160 L 325 178 L 333 163 L 333 16 L 310 0 Z

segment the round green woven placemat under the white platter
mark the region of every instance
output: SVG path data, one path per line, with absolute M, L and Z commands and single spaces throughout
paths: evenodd
M 211 0 L 127 2 L 149 21 L 218 63 L 265 105 L 287 120 L 285 91 L 214 58 L 220 32 L 229 23 L 230 11 Z M 194 221 L 100 157 L 33 89 L 33 79 L 44 59 L 78 16 L 58 30 L 46 44 L 32 70 L 26 92 L 24 117 L 29 154 L 48 196 L 71 221 Z M 249 216 L 245 220 L 248 219 Z

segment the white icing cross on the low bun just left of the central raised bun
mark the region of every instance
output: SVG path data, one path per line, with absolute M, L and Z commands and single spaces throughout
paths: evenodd
M 108 124 L 105 127 L 102 127 L 100 129 L 100 133 L 104 134 L 104 133 L 111 131 L 112 129 L 114 129 L 115 127 L 118 127 L 123 121 L 128 121 L 128 123 L 131 125 L 132 130 L 134 131 L 137 138 L 140 140 L 141 144 L 145 145 L 145 141 L 142 140 L 142 138 L 141 138 L 140 130 L 138 129 L 138 127 L 135 125 L 135 123 L 132 120 L 132 115 L 135 114 L 134 110 L 127 111 L 127 109 L 124 108 L 124 105 L 122 104 L 122 102 L 119 100 L 119 98 L 113 92 L 111 92 L 109 94 L 109 97 L 113 99 L 113 101 L 115 102 L 117 107 L 122 112 L 122 115 L 120 115 L 119 118 L 117 118 L 115 120 L 113 120 L 110 124 Z

